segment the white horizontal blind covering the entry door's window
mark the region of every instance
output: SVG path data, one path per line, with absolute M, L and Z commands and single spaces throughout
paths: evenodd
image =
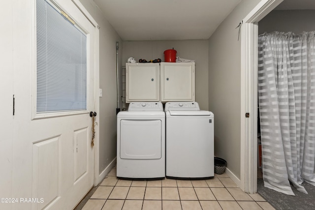
M 36 1 L 36 112 L 87 109 L 87 35 L 48 0 Z

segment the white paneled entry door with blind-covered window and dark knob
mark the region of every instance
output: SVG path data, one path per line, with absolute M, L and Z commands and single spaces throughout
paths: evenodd
M 86 56 L 83 56 L 83 59 L 84 57 L 86 59 L 85 84 L 73 84 L 71 81 L 64 80 L 63 76 L 57 78 L 59 86 L 65 87 L 64 90 L 74 89 L 73 85 L 74 91 L 86 88 L 86 102 L 84 100 L 82 102 L 86 103 L 86 106 L 73 110 L 58 108 L 54 111 L 52 108 L 43 111 L 38 108 L 39 94 L 46 94 L 45 91 L 38 93 L 38 81 L 42 76 L 38 74 L 37 67 L 41 64 L 36 55 L 36 52 L 38 53 L 38 46 L 36 48 L 38 42 L 36 18 L 39 18 L 36 17 L 36 10 L 38 10 L 36 4 L 38 1 L 13 0 L 12 65 L 15 113 L 12 137 L 12 193 L 8 197 L 18 199 L 16 203 L 11 204 L 12 209 L 70 210 L 94 184 L 94 148 L 91 145 L 93 120 L 89 113 L 95 111 L 95 27 L 71 0 L 47 0 L 47 2 L 40 0 L 45 3 L 45 10 L 52 7 L 50 10 L 53 15 L 60 15 L 67 21 L 69 29 L 76 27 L 76 30 L 86 36 L 84 46 L 87 48 Z M 46 22 L 51 21 L 49 16 L 46 16 Z M 57 24 L 57 27 L 59 26 L 61 27 Z M 63 29 L 65 34 L 68 28 Z M 49 30 L 49 27 L 47 26 L 44 30 Z M 54 36 L 60 36 L 59 30 L 51 32 Z M 68 41 L 73 40 L 70 38 Z M 53 44 L 53 47 L 58 44 Z M 67 49 L 57 50 L 54 53 L 62 58 L 77 60 L 73 58 L 75 55 L 67 52 Z M 50 55 L 47 56 L 47 65 L 54 65 L 57 60 L 49 60 L 49 57 Z M 82 58 L 78 60 L 80 59 L 82 60 Z M 74 65 L 76 67 L 73 67 Z M 73 68 L 77 68 L 74 61 L 59 63 L 56 69 L 65 74 L 72 74 Z M 54 71 L 49 73 L 55 74 Z M 47 79 L 47 84 L 49 86 L 49 79 Z M 68 94 L 67 91 L 57 90 L 51 92 L 50 96 L 64 98 L 66 94 Z M 75 96 L 68 95 L 67 97 L 66 102 L 72 101 Z M 58 106 L 58 103 L 64 102 L 49 102 L 49 99 L 47 101 L 47 107 Z

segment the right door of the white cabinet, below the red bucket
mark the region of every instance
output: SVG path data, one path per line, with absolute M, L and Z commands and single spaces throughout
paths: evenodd
M 194 101 L 194 63 L 161 63 L 161 101 Z

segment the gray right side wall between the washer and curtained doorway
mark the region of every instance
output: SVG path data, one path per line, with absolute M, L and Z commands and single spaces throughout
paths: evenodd
M 242 0 L 209 39 L 209 110 L 215 114 L 215 155 L 240 179 L 242 19 L 260 0 Z

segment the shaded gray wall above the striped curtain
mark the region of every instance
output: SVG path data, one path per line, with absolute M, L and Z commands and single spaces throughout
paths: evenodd
M 315 10 L 274 10 L 258 23 L 258 34 L 272 31 L 296 34 L 315 30 Z

